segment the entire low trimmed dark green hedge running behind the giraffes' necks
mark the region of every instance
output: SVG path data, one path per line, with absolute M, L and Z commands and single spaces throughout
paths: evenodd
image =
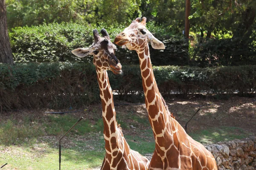
M 138 65 L 124 65 L 123 75 L 109 73 L 111 87 L 119 99 L 143 99 Z M 255 96 L 256 66 L 194 68 L 155 66 L 160 92 L 168 97 L 179 93 L 232 94 Z M 130 97 L 128 97 L 130 96 Z M 131 97 L 132 96 L 132 97 Z M 99 102 L 94 65 L 90 63 L 0 64 L 0 107 L 69 108 Z

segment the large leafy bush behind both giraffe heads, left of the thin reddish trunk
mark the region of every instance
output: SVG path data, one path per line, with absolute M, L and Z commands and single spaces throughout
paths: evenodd
M 97 27 L 100 31 L 104 26 Z M 123 31 L 125 26 L 106 28 L 111 40 Z M 174 37 L 161 26 L 148 23 L 151 33 L 163 41 L 165 50 L 154 50 L 150 46 L 154 65 L 185 65 L 188 63 L 187 46 L 182 37 Z M 93 43 L 93 27 L 76 23 L 51 23 L 41 26 L 18 27 L 9 33 L 15 62 L 57 62 L 81 61 L 71 50 L 88 47 Z M 123 64 L 138 64 L 135 51 L 117 47 L 116 56 Z M 87 57 L 90 61 L 92 57 Z

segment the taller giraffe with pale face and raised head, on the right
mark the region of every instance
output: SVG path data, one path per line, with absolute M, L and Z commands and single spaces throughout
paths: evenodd
M 148 42 L 154 49 L 165 49 L 165 46 L 145 26 L 146 18 L 137 18 L 116 36 L 114 43 L 135 50 L 139 57 L 145 105 L 155 139 L 155 149 L 148 169 L 217 170 L 212 154 L 185 132 L 170 114 L 160 94 L 151 66 Z

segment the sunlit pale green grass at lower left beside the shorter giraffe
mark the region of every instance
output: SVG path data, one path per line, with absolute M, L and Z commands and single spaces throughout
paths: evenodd
M 88 144 L 76 142 L 75 138 L 70 140 L 74 141 L 74 146 L 61 150 L 61 167 L 65 170 L 84 170 L 99 166 L 102 164 L 105 150 L 98 151 L 90 148 Z M 63 142 L 64 143 L 64 142 Z M 102 142 L 101 142 L 102 143 Z M 1 146 L 0 150 L 4 148 Z M 5 152 L 0 155 L 0 165 L 8 163 L 7 169 L 19 170 L 54 170 L 58 169 L 58 147 L 50 143 L 38 143 L 28 146 L 12 146 L 8 147 L 11 152 Z M 15 153 L 15 155 L 14 155 Z

